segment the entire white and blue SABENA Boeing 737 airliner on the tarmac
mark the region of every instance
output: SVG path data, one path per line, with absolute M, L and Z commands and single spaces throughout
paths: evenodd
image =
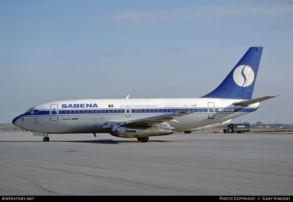
M 48 134 L 110 133 L 137 138 L 169 135 L 248 114 L 261 101 L 251 99 L 263 47 L 251 47 L 224 81 L 199 98 L 91 99 L 48 102 L 30 108 L 12 123 L 48 142 Z

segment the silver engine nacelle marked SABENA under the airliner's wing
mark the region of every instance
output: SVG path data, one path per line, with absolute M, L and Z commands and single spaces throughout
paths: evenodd
M 110 134 L 115 137 L 149 137 L 172 134 L 173 127 L 166 126 L 139 126 L 123 127 L 118 125 L 111 126 Z

